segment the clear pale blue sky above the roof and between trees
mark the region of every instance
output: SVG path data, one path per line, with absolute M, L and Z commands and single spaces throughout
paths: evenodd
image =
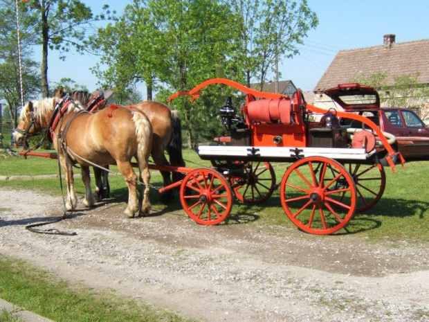
M 128 0 L 83 0 L 93 13 L 101 11 L 104 3 L 118 14 Z M 280 80 L 292 80 L 304 91 L 313 90 L 336 53 L 344 49 L 381 46 L 383 35 L 396 35 L 396 42 L 429 39 L 429 1 L 421 0 L 308 0 L 316 12 L 319 24 L 310 30 L 300 55 L 279 62 Z M 41 51 L 41 49 L 40 49 Z M 41 57 L 41 53 L 35 53 Z M 48 55 L 48 78 L 51 87 L 61 78 L 71 78 L 93 91 L 98 80 L 89 70 L 99 58 L 89 54 L 69 53 L 62 62 L 55 51 Z M 271 75 L 271 80 L 274 75 Z M 144 91 L 144 87 L 141 87 Z M 145 97 L 145 93 L 143 93 Z

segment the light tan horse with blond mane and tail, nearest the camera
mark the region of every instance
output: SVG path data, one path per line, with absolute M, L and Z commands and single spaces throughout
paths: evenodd
M 80 164 L 86 190 L 84 205 L 90 207 L 94 204 L 94 198 L 89 166 L 116 163 L 129 190 L 125 214 L 129 217 L 140 215 L 137 175 L 131 164 L 134 157 L 138 162 L 140 179 L 145 183 L 141 212 L 149 213 L 150 172 L 147 161 L 153 134 L 152 125 L 145 114 L 116 105 L 90 114 L 71 100 L 57 102 L 57 98 L 28 102 L 21 111 L 18 127 L 13 134 L 15 140 L 26 140 L 42 129 L 52 135 L 55 150 L 66 173 L 67 211 L 77 205 L 73 164 Z

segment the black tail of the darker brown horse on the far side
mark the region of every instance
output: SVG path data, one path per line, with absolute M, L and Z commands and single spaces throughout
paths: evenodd
M 170 155 L 170 164 L 172 166 L 185 166 L 182 154 L 182 125 L 178 112 L 174 109 L 171 111 L 172 116 L 172 138 L 167 146 L 167 152 Z M 173 182 L 182 179 L 180 172 L 173 172 Z

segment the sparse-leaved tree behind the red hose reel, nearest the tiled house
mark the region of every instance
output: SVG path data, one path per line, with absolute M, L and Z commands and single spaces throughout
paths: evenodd
M 247 86 L 257 79 L 261 90 L 276 60 L 297 55 L 297 45 L 318 26 L 307 0 L 230 0 L 230 6 L 241 16 L 235 21 L 240 38 L 234 61 L 244 69 Z

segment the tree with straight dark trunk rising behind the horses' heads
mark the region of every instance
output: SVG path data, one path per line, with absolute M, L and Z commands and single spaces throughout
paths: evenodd
M 30 0 L 25 7 L 35 28 L 35 43 L 42 45 L 42 94 L 48 97 L 48 49 L 60 51 L 62 59 L 71 48 L 85 51 L 86 28 L 106 16 L 93 16 L 79 0 Z M 107 15 L 108 8 L 103 8 Z

